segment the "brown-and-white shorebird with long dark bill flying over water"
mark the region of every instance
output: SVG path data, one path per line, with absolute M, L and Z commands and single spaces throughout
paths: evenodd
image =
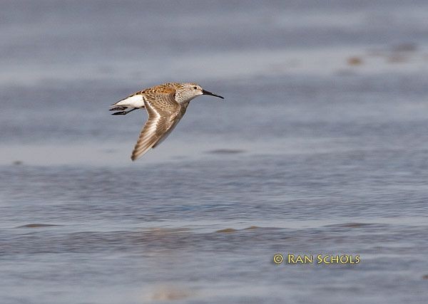
M 146 109 L 148 119 L 131 154 L 132 161 L 146 154 L 165 140 L 185 114 L 193 98 L 211 95 L 198 83 L 163 83 L 138 91 L 111 105 L 112 115 L 126 115 L 137 109 Z

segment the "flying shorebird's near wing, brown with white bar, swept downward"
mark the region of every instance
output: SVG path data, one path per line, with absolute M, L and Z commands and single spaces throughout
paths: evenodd
M 180 104 L 175 101 L 175 90 L 165 88 L 161 92 L 147 92 L 144 95 L 144 105 L 148 120 L 141 130 L 140 137 L 131 159 L 136 160 L 151 149 L 156 142 L 168 134 L 183 115 L 180 114 Z

